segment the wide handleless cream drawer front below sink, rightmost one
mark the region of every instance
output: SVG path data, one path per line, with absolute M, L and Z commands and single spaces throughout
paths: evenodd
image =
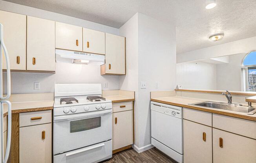
M 212 114 L 212 126 L 217 129 L 256 139 L 256 121 Z

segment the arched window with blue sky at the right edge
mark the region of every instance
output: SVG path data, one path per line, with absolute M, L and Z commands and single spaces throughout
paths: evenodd
M 243 75 L 247 78 L 247 80 L 244 81 L 248 82 L 246 83 L 246 90 L 243 91 L 256 92 L 256 51 L 250 52 L 245 56 L 243 59 L 243 66 L 242 73 L 243 69 L 247 69 L 247 75 Z

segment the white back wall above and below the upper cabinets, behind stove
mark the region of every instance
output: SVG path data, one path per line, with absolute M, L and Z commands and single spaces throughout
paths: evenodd
M 0 0 L 0 10 L 35 16 L 57 22 L 78 25 L 106 33 L 119 34 L 119 29 L 108 27 L 106 25 L 89 22 L 79 18 L 66 16 L 63 14 L 53 13 L 28 7 L 24 5 L 14 4 Z M 4 73 L 3 76 L 6 79 Z M 100 67 L 88 65 L 72 65 L 66 63 L 56 63 L 56 74 L 43 73 L 24 73 L 12 72 L 12 93 L 38 93 L 38 92 L 53 92 L 55 83 L 104 83 L 108 82 L 108 88 L 102 89 L 119 89 L 118 76 L 101 76 Z M 34 90 L 34 82 L 40 82 L 40 90 Z M 5 92 L 5 89 L 4 89 Z

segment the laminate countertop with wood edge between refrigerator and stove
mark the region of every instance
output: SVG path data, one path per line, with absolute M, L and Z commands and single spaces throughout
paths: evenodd
M 12 102 L 11 103 L 11 112 L 20 113 L 20 112 L 33 112 L 40 110 L 52 110 L 53 109 L 53 100 L 48 101 L 26 101 L 26 102 Z M 8 114 L 8 107 L 4 103 L 4 116 Z

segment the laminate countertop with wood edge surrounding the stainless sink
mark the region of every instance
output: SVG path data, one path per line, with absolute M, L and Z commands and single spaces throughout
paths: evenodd
M 203 99 L 170 96 L 170 97 L 151 98 L 151 101 L 165 103 L 165 104 L 169 104 L 169 105 L 175 105 L 175 106 L 179 106 L 179 107 L 186 107 L 186 108 L 194 109 L 194 110 L 201 110 L 201 111 L 205 111 L 205 112 L 221 114 L 221 115 L 225 115 L 225 116 L 231 116 L 231 117 L 235 117 L 235 118 L 241 118 L 241 119 L 245 119 L 245 120 L 256 121 L 256 113 L 253 115 L 246 115 L 246 114 L 242 114 L 242 113 L 231 112 L 228 110 L 211 109 L 211 108 L 207 108 L 207 107 L 199 107 L 199 106 L 189 105 L 190 103 L 207 101 L 207 100 L 203 100 Z

